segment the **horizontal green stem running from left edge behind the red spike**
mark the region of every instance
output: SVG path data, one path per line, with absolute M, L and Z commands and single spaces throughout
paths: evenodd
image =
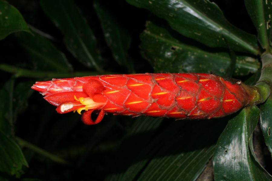
M 28 78 L 66 78 L 66 77 L 82 77 L 82 76 L 96 76 L 99 72 L 72 72 L 72 73 L 56 73 L 50 71 L 34 71 L 29 69 L 22 69 L 8 64 L 0 64 L 0 70 L 14 73 L 16 77 Z M 105 74 L 114 74 L 112 72 L 103 72 Z

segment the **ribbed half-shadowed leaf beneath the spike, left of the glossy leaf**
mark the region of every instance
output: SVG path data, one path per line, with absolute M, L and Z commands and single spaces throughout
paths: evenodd
M 127 135 L 118 150 L 120 156 L 116 160 L 119 161 L 114 162 L 118 169 L 115 173 L 120 174 L 110 180 L 196 179 L 212 157 L 225 121 L 173 121 L 169 125 L 162 124 L 162 129 L 148 130 L 143 125 L 138 128 L 142 131 Z M 152 135 L 157 136 L 152 138 Z

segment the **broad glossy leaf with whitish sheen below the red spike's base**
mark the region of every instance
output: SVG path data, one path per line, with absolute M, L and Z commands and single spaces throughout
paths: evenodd
M 259 115 L 257 106 L 246 107 L 228 122 L 213 157 L 215 180 L 272 180 L 253 151 L 252 134 Z

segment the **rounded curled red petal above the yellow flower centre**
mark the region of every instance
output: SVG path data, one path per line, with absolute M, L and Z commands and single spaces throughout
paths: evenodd
M 95 93 L 101 93 L 105 87 L 98 80 L 89 79 L 83 84 L 82 89 L 90 98 L 92 98 Z

